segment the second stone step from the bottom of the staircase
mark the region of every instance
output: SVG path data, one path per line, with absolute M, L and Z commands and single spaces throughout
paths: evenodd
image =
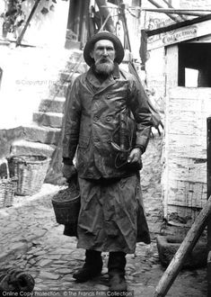
M 37 125 L 25 126 L 22 129 L 25 140 L 54 145 L 57 145 L 61 131 L 60 128 Z

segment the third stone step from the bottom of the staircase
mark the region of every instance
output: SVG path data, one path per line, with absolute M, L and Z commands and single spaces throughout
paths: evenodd
M 62 112 L 33 112 L 33 121 L 37 122 L 40 126 L 61 128 L 62 118 Z

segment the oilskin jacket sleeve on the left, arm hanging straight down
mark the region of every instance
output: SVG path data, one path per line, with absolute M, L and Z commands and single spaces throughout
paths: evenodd
M 73 164 L 78 144 L 81 121 L 79 80 L 76 78 L 70 92 L 66 95 L 65 130 L 63 137 L 63 162 Z

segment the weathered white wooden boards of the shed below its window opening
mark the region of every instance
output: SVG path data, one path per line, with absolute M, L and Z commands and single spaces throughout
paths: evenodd
M 207 117 L 211 89 L 174 87 L 166 107 L 165 215 L 192 217 L 207 202 Z

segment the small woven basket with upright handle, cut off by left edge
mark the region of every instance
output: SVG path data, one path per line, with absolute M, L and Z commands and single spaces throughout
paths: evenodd
M 6 177 L 0 178 L 0 208 L 13 205 L 14 191 L 17 186 L 17 180 L 10 178 L 7 162 L 6 171 Z

